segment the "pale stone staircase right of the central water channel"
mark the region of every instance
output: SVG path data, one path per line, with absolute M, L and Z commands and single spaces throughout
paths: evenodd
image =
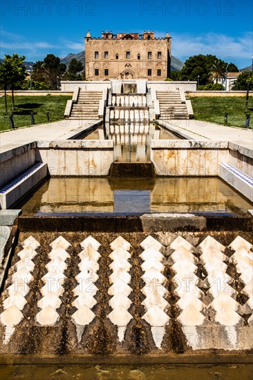
M 187 106 L 182 103 L 179 91 L 156 91 L 160 105 L 160 120 L 189 119 Z

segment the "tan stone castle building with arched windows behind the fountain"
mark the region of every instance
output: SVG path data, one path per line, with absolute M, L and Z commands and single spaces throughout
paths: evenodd
M 102 38 L 85 37 L 86 79 L 165 80 L 170 75 L 171 37 L 154 32 L 102 32 Z

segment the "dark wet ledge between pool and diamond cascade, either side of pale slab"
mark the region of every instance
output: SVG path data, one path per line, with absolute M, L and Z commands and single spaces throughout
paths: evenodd
M 198 215 L 196 215 L 198 216 Z M 187 231 L 199 231 L 200 226 L 205 231 L 245 231 L 253 230 L 253 218 L 249 213 L 240 216 L 200 216 L 205 218 L 206 227 L 203 227 L 203 220 L 197 222 L 197 227 L 187 225 Z M 200 225 L 198 225 L 200 223 Z M 89 231 L 89 232 L 143 232 L 141 216 L 94 216 L 94 215 L 46 215 L 46 216 L 20 216 L 20 231 Z M 152 230 L 153 231 L 153 230 Z M 162 229 L 165 231 L 165 228 Z M 166 231 L 171 231 L 168 228 Z M 174 227 L 174 232 L 185 231 L 185 227 Z M 149 231 L 151 232 L 151 231 Z

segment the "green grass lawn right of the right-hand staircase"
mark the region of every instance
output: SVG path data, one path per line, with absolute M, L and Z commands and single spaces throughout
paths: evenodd
M 224 124 L 224 113 L 227 112 L 227 125 L 245 126 L 246 97 L 191 97 L 194 119 Z M 250 128 L 253 129 L 253 97 L 250 96 L 248 111 L 250 113 Z

